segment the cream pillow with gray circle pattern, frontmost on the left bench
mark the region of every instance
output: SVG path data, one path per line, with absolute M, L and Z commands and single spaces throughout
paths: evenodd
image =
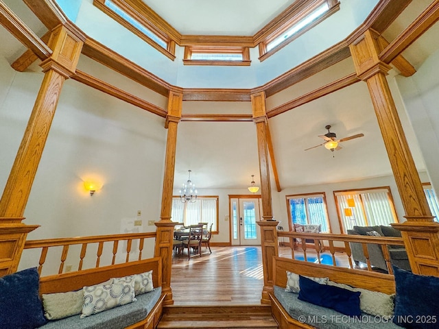
M 131 282 L 120 280 L 109 284 L 104 282 L 104 284 L 84 287 L 82 290 L 84 291 L 84 304 L 82 304 L 81 319 L 136 301 L 134 280 Z

